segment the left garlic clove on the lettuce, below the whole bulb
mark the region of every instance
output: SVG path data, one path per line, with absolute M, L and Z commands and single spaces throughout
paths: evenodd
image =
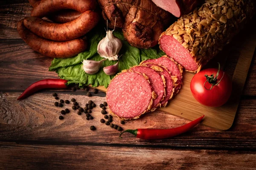
M 102 62 L 104 62 L 105 60 L 107 59 L 102 59 L 100 61 L 84 59 L 82 63 L 83 63 L 83 69 L 85 73 L 96 74 L 99 71 L 99 68 L 101 68 Z

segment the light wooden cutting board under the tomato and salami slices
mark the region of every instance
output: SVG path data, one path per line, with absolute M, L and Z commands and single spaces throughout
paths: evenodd
M 244 31 L 244 33 L 241 33 L 239 36 L 235 37 L 230 45 L 227 45 L 227 47 L 225 47 L 217 57 L 206 65 L 206 67 L 212 66 L 218 68 L 217 62 L 220 62 L 222 68 L 224 68 L 224 65 L 228 64 L 226 61 L 227 56 L 229 56 L 230 53 L 239 55 L 239 59 L 232 77 L 233 92 L 230 100 L 225 105 L 218 108 L 211 108 L 198 103 L 190 91 L 190 81 L 194 74 L 184 72 L 183 86 L 180 89 L 180 92 L 174 96 L 174 98 L 165 108 L 159 108 L 158 110 L 187 120 L 197 119 L 204 114 L 205 117 L 202 122 L 203 125 L 214 127 L 219 130 L 229 129 L 232 126 L 233 120 L 236 116 L 240 96 L 244 88 L 244 83 L 256 46 L 256 33 L 251 33 L 248 36 L 248 34 L 246 34 L 247 30 L 244 29 Z M 103 86 L 99 86 L 97 89 L 106 92 L 106 88 Z

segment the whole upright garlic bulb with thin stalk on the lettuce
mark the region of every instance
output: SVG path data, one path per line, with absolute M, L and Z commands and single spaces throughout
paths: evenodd
M 122 41 L 116 38 L 112 32 L 107 31 L 106 37 L 99 42 L 97 47 L 100 57 L 104 57 L 110 61 L 118 59 L 118 53 L 122 48 Z

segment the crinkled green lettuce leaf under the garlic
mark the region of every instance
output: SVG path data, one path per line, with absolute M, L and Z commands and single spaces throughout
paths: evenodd
M 143 60 L 155 59 L 165 55 L 158 46 L 149 49 L 132 47 L 124 40 L 122 31 L 114 31 L 113 34 L 122 40 L 122 48 L 119 52 L 121 57 L 119 57 L 118 72 L 128 69 L 134 65 L 139 65 Z M 67 85 L 76 83 L 79 84 L 79 87 L 83 87 L 84 85 L 91 84 L 93 87 L 104 85 L 105 88 L 107 88 L 110 80 L 113 79 L 114 76 L 108 76 L 104 73 L 102 68 L 96 74 L 87 74 L 84 72 L 81 63 L 83 59 L 92 59 L 95 61 L 103 59 L 97 53 L 97 46 L 99 41 L 102 40 L 105 35 L 106 32 L 103 29 L 97 28 L 96 31 L 92 32 L 90 37 L 88 37 L 90 47 L 87 51 L 67 59 L 53 59 L 52 65 L 49 67 L 49 71 L 56 71 L 61 79 L 68 80 L 69 82 L 67 82 Z M 116 62 L 117 61 L 106 60 L 103 62 L 103 66 L 113 65 Z

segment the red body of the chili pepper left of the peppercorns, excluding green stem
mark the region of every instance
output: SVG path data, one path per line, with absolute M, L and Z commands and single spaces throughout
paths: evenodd
M 27 96 L 35 93 L 44 88 L 67 88 L 67 80 L 64 79 L 43 79 L 30 85 L 18 98 L 17 100 L 24 99 Z

